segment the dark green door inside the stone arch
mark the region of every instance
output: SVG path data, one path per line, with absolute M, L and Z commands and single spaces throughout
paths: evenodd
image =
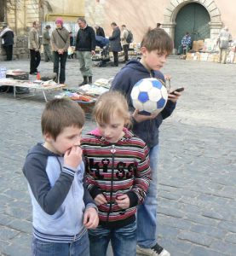
M 176 16 L 175 48 L 181 44 L 181 38 L 189 32 L 192 40 L 210 38 L 210 15 L 199 3 L 188 3 Z

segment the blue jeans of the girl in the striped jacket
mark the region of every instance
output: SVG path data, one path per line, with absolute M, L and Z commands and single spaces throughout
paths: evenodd
M 114 256 L 135 256 L 136 238 L 135 222 L 119 229 L 99 225 L 95 230 L 89 230 L 90 256 L 106 256 L 109 241 Z

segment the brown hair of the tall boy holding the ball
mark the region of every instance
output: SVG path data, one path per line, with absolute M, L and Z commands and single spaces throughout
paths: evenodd
M 162 28 L 149 29 L 141 41 L 141 47 L 146 47 L 148 51 L 158 49 L 168 55 L 172 52 L 173 46 L 173 40 Z

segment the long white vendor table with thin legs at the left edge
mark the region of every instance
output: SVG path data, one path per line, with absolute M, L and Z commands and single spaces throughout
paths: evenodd
M 31 81 L 24 81 L 24 80 L 0 79 L 0 86 L 13 86 L 15 99 L 16 99 L 16 93 L 15 93 L 16 87 L 22 87 L 22 88 L 28 88 L 30 90 L 34 90 L 34 93 L 32 95 L 21 96 L 21 97 L 17 97 L 17 98 L 25 98 L 25 97 L 29 97 L 29 96 L 35 96 L 36 90 L 41 90 L 43 92 L 44 100 L 45 100 L 45 102 L 47 102 L 48 100 L 47 100 L 45 91 L 61 90 L 66 85 L 65 84 L 37 84 L 37 83 L 33 83 Z

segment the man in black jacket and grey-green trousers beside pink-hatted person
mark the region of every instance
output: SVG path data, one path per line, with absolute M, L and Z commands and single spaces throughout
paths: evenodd
M 83 82 L 78 84 L 92 84 L 92 55 L 95 55 L 95 31 L 88 26 L 86 20 L 78 18 L 78 34 L 76 38 L 76 50 L 80 64 L 80 72 L 83 75 Z

